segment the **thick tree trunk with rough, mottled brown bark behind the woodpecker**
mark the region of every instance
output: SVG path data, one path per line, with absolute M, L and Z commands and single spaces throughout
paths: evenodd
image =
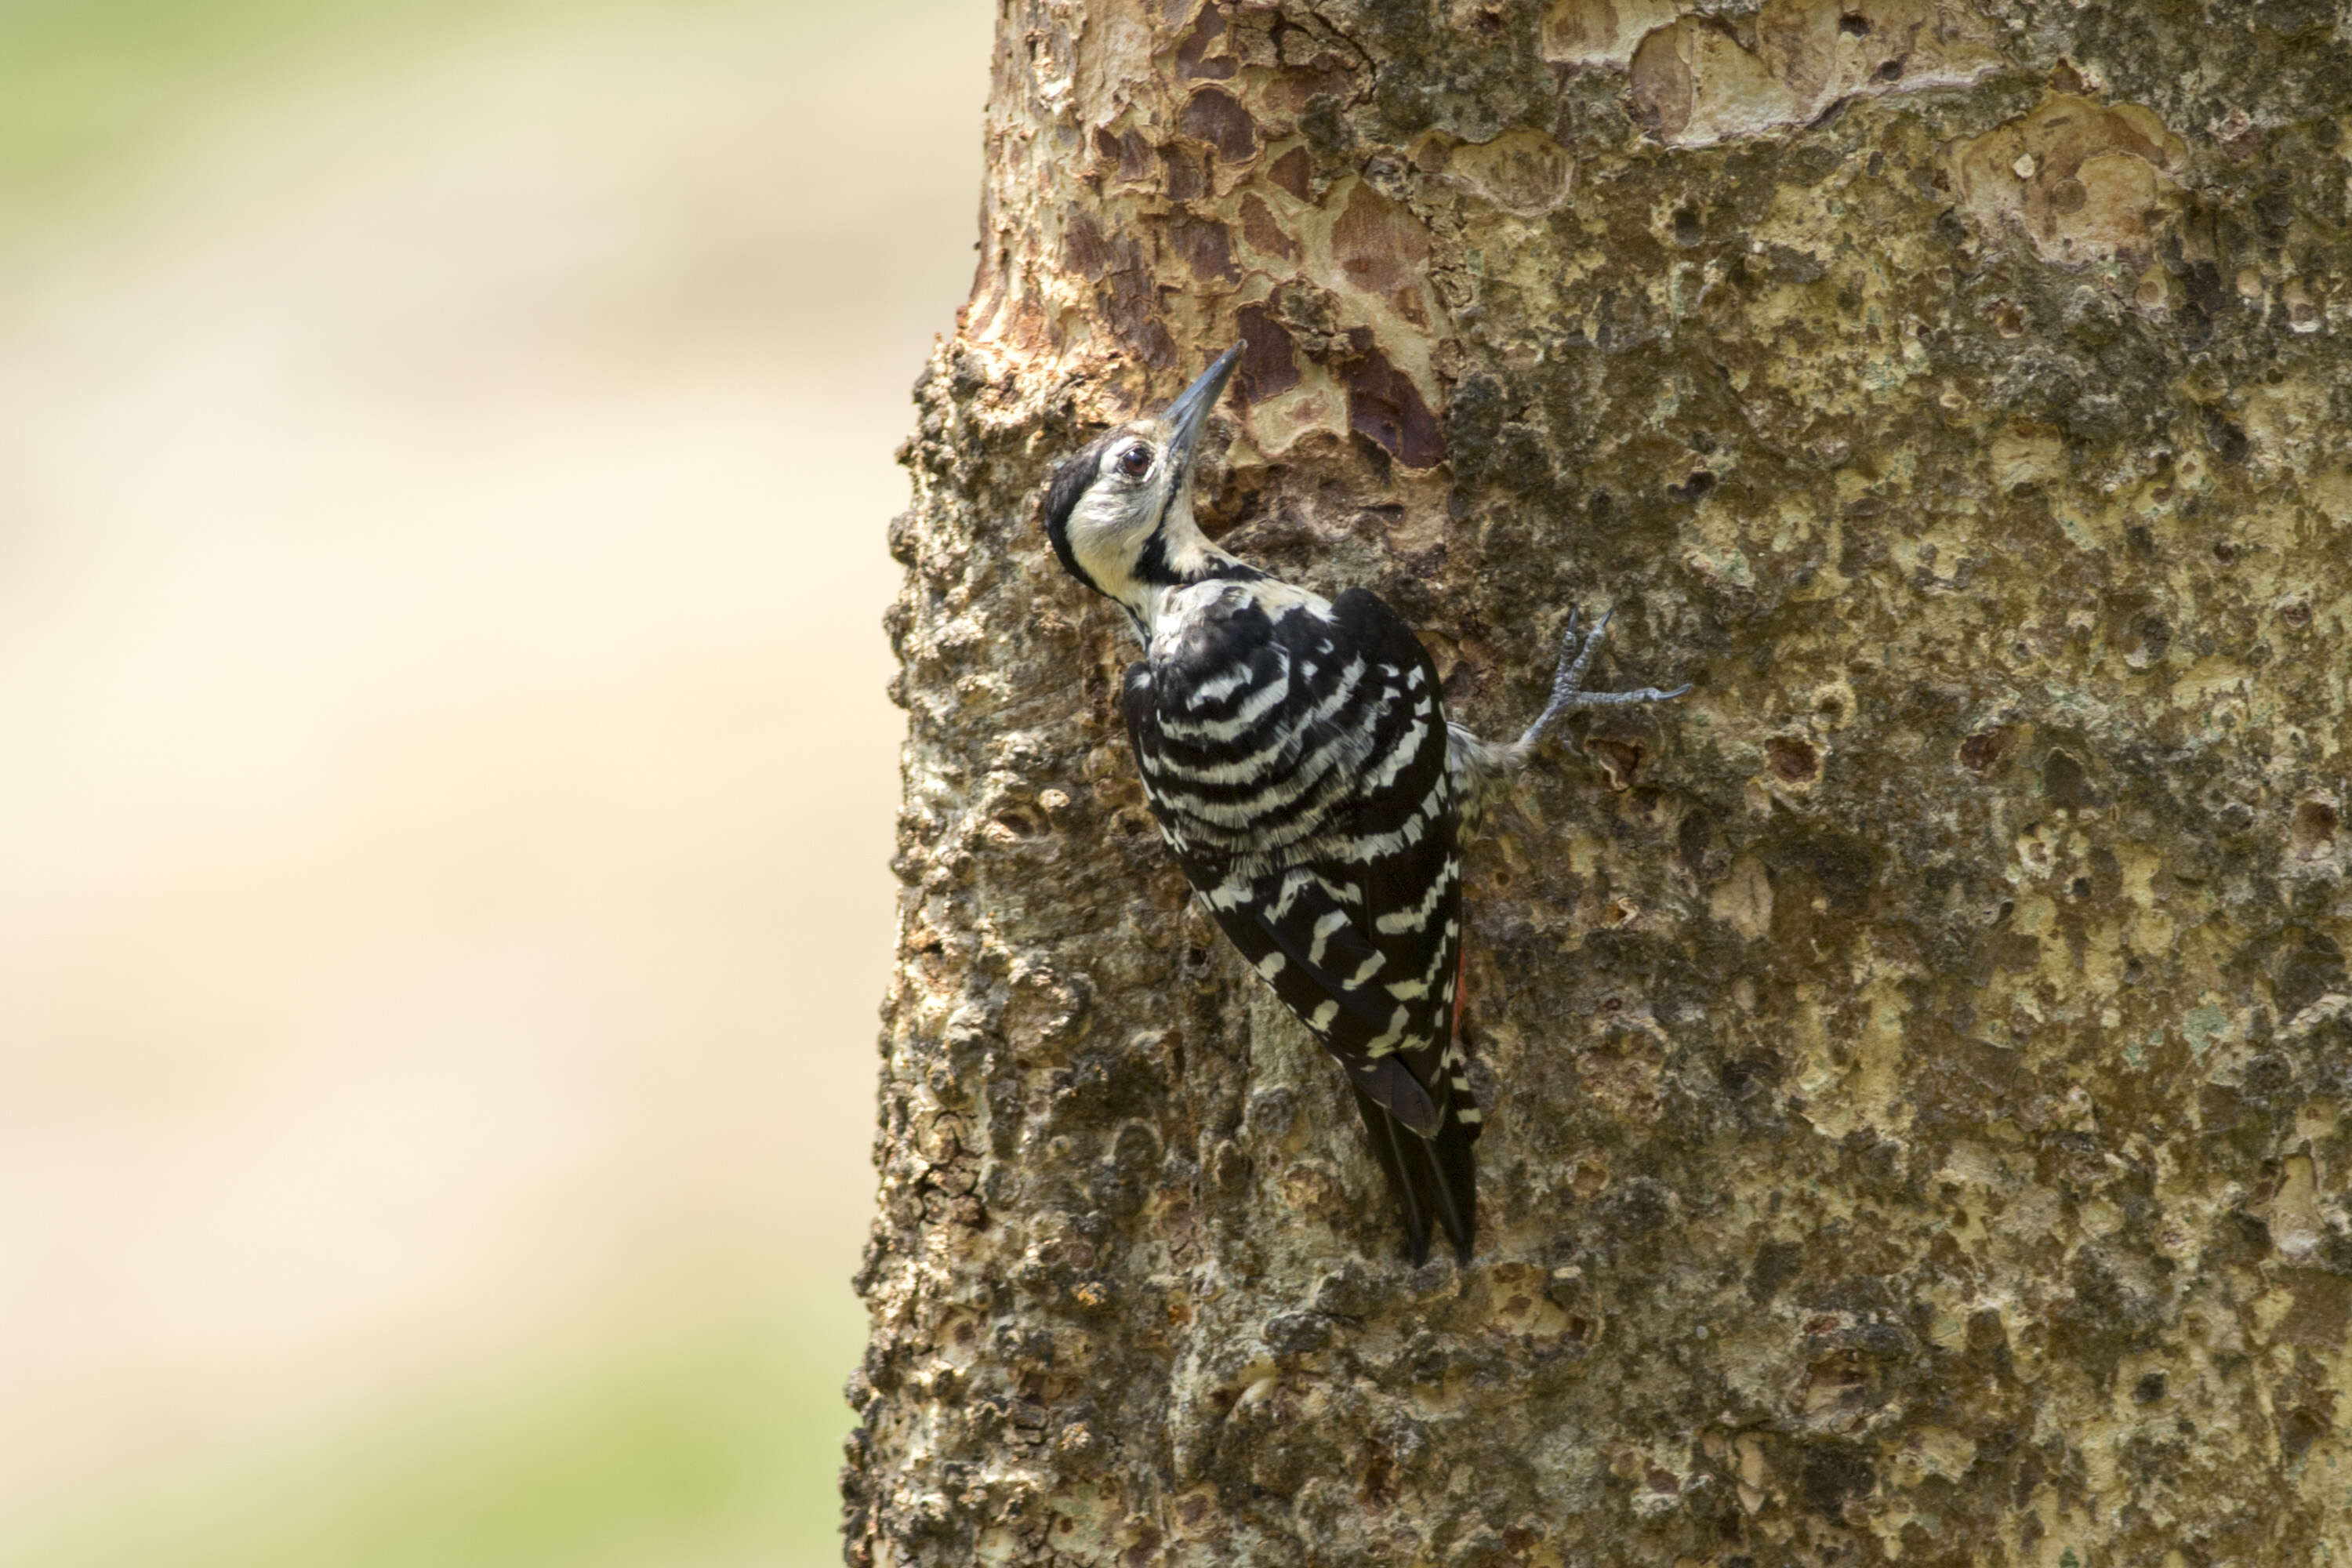
M 2345 1561 L 2347 132 L 2326 0 L 1007 0 L 849 1559 Z M 1698 682 L 1472 858 L 1470 1269 L 1037 529 L 1235 336 L 1225 545 Z

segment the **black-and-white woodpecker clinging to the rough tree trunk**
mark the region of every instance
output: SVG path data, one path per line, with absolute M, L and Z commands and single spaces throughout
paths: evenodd
M 1458 1037 L 1463 844 L 1564 712 L 1689 686 L 1585 691 L 1609 618 L 1578 637 L 1571 614 L 1543 712 L 1512 743 L 1479 741 L 1446 719 L 1437 665 L 1376 595 L 1324 599 L 1209 543 L 1192 463 L 1242 348 L 1164 414 L 1063 461 L 1044 529 L 1143 644 L 1122 710 L 1160 837 L 1345 1067 L 1414 1262 L 1439 1227 L 1468 1265 L 1479 1107 Z

